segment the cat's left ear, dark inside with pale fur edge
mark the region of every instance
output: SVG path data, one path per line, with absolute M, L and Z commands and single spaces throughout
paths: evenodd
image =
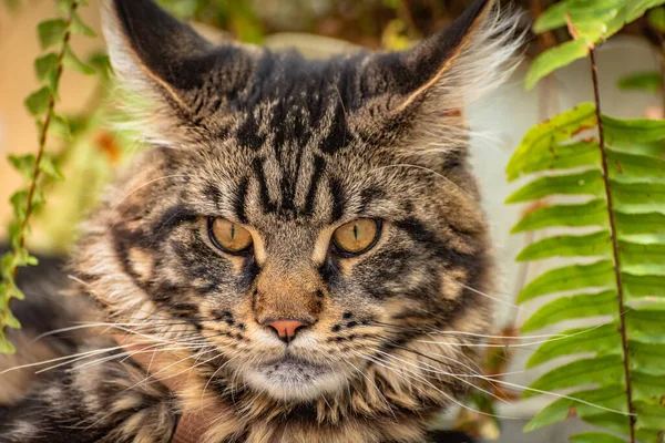
M 213 47 L 153 0 L 102 1 L 113 69 L 123 86 L 153 99 L 151 112 L 161 119 L 152 119 L 157 133 L 174 124 L 201 124 L 245 86 L 255 60 L 252 50 Z

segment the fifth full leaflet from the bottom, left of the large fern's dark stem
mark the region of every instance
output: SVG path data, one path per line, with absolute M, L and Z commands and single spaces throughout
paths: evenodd
M 572 289 L 614 286 L 614 268 L 611 260 L 600 260 L 591 265 L 571 265 L 545 271 L 522 289 L 518 302 Z

